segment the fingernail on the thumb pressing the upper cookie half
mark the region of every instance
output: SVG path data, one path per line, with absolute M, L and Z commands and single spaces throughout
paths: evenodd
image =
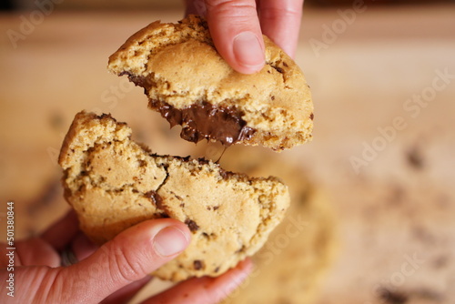
M 234 38 L 234 56 L 242 66 L 257 67 L 264 65 L 264 50 L 258 36 L 253 32 L 243 32 Z

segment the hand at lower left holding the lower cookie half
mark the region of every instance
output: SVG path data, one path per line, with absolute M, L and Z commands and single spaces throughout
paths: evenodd
M 176 258 L 190 240 L 175 219 L 147 220 L 96 248 L 70 212 L 39 238 L 15 243 L 15 297 L 6 295 L 8 258 L 0 245 L 1 303 L 126 303 L 151 279 L 149 273 Z M 77 260 L 61 267 L 59 251 L 72 248 Z M 217 278 L 188 279 L 145 300 L 157 303 L 217 303 L 246 279 L 250 261 Z

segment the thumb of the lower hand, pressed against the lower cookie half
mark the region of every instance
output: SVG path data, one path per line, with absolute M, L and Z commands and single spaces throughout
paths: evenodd
M 50 299 L 98 303 L 176 258 L 190 238 L 187 226 L 171 218 L 147 220 L 128 228 L 90 257 L 62 269 L 51 290 L 55 298 L 50 295 Z

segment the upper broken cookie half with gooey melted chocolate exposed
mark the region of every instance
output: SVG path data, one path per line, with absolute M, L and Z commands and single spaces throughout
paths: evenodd
M 180 136 L 226 146 L 280 151 L 311 139 L 313 104 L 296 63 L 264 36 L 266 65 L 254 75 L 234 71 L 213 45 L 206 21 L 154 22 L 109 57 L 108 70 L 144 87 L 148 106 Z

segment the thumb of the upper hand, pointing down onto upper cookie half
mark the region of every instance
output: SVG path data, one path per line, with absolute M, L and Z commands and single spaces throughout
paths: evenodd
M 207 23 L 217 51 L 243 74 L 265 63 L 264 40 L 255 0 L 206 0 Z

